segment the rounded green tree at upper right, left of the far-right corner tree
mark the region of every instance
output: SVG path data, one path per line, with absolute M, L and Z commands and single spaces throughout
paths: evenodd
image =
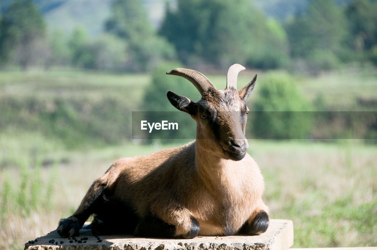
M 314 50 L 339 53 L 347 30 L 345 15 L 333 0 L 311 0 L 287 26 L 291 53 L 308 57 Z

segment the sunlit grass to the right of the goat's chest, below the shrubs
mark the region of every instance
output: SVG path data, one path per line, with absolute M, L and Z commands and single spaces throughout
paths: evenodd
M 377 148 L 357 140 L 250 142 L 272 218 L 293 221 L 294 247 L 375 246 Z

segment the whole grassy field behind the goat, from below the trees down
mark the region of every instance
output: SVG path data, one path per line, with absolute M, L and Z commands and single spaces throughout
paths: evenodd
M 253 73 L 240 74 L 240 84 Z M 208 78 L 225 87 L 225 75 Z M 377 99 L 377 75 L 371 71 L 295 79 L 308 99 L 323 95 L 343 110 Z M 179 145 L 142 145 L 118 134 L 129 135 L 130 111 L 147 110 L 141 100 L 149 84 L 147 75 L 0 72 L 0 249 L 21 249 L 55 229 L 114 160 Z M 66 108 L 59 110 L 56 103 Z M 82 113 L 70 110 L 72 103 L 82 106 Z M 82 127 L 74 123 L 77 115 L 98 123 Z M 249 140 L 249 145 L 265 177 L 271 217 L 293 221 L 294 247 L 377 245 L 375 145 L 360 140 Z

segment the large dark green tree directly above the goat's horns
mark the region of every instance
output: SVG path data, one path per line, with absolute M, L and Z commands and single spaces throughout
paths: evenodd
M 266 42 L 273 31 L 249 0 L 177 2 L 176 10 L 167 5 L 160 34 L 175 45 L 182 62 L 190 64 L 199 59 L 224 68 L 234 62 L 263 64 L 263 54 L 271 45 Z

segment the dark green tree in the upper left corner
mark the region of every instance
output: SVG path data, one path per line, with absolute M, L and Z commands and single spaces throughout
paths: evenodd
M 0 58 L 6 64 L 17 61 L 26 70 L 40 55 L 38 41 L 44 38 L 46 25 L 31 1 L 14 2 L 3 15 L 0 25 Z

